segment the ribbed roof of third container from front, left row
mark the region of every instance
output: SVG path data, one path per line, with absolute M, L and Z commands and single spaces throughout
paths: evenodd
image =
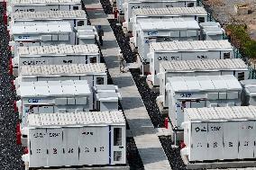
M 70 64 L 70 65 L 40 65 L 20 67 L 20 76 L 74 76 L 106 74 L 104 63 Z

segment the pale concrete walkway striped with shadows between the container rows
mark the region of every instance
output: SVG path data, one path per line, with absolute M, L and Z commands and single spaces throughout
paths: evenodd
M 132 136 L 135 140 L 143 166 L 148 169 L 171 169 L 165 156 L 160 140 L 154 129 L 148 112 L 142 103 L 141 95 L 133 82 L 130 72 L 120 73 L 117 54 L 119 47 L 114 37 L 107 15 L 102 9 L 99 0 L 84 0 L 88 18 L 92 25 L 102 25 L 105 31 L 102 54 L 106 67 L 113 79 L 114 85 L 118 85 L 123 96 L 122 106 L 125 117 L 129 123 Z

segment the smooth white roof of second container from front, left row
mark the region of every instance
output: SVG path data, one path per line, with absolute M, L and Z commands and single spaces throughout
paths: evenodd
M 21 97 L 78 96 L 91 94 L 87 80 L 21 82 Z

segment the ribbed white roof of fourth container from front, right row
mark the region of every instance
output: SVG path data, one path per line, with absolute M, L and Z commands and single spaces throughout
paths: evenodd
M 191 40 L 191 41 L 151 42 L 150 48 L 158 52 L 233 50 L 233 46 L 228 40 Z

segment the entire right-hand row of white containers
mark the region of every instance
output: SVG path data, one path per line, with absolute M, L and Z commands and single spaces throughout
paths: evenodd
M 256 80 L 197 0 L 112 1 L 185 162 L 255 160 Z

